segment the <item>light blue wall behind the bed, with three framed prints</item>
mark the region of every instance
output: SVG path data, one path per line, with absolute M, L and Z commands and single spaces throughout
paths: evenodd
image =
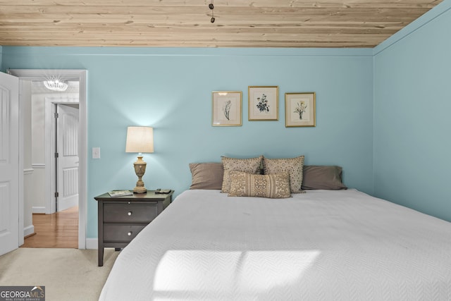
M 147 188 L 190 186 L 190 162 L 220 156 L 289 157 L 337 164 L 345 184 L 373 192 L 372 49 L 3 47 L 6 68 L 88 70 L 87 237 L 97 237 L 103 192 L 133 188 L 128 125 L 154 127 Z M 278 85 L 279 121 L 247 121 L 247 87 Z M 211 126 L 211 92 L 242 91 L 241 127 Z M 316 92 L 316 127 L 285 128 L 285 92 Z

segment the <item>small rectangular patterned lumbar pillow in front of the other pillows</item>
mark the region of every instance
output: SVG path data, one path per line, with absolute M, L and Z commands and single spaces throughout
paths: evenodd
M 229 197 L 269 197 L 271 199 L 291 197 L 288 173 L 255 175 L 244 171 L 230 171 L 229 176 Z

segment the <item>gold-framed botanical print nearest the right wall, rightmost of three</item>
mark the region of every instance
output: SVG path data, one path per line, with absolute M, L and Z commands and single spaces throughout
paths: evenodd
M 285 127 L 315 125 L 315 92 L 285 93 Z

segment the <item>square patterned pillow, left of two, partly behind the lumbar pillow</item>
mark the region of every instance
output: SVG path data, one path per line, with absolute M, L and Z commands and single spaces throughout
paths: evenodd
M 221 156 L 224 167 L 224 177 L 221 192 L 230 192 L 230 176 L 229 171 L 245 171 L 247 173 L 259 173 L 260 164 L 263 156 L 249 159 L 236 159 L 227 156 Z

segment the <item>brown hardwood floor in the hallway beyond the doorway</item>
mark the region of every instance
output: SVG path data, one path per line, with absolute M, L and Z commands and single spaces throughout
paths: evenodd
M 35 235 L 20 247 L 78 248 L 78 207 L 54 214 L 33 214 Z

